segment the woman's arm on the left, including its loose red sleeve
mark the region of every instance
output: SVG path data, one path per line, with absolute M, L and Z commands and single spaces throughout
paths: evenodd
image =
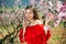
M 22 44 L 25 42 L 25 41 L 24 41 L 25 28 L 26 28 L 26 24 L 25 24 L 25 22 L 23 21 L 23 22 L 22 22 L 22 29 L 20 29 L 20 31 L 19 31 L 19 38 L 20 38 L 20 42 L 21 42 Z

